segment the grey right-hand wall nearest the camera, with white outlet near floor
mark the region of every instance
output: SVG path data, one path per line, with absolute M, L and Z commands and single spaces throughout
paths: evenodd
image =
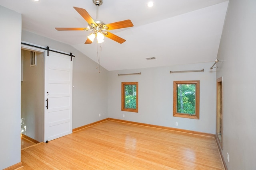
M 256 169 L 255 30 L 256 1 L 230 0 L 216 73 L 223 76 L 222 154 L 229 170 Z

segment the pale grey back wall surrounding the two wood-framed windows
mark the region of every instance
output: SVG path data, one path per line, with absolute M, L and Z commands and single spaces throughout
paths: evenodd
M 110 71 L 108 79 L 109 117 L 215 134 L 216 77 L 215 70 L 210 71 L 212 64 L 201 63 Z M 204 72 L 170 74 L 171 70 L 199 70 L 202 68 L 204 68 Z M 141 72 L 141 75 L 118 76 L 118 74 L 136 72 Z M 176 80 L 200 80 L 199 120 L 173 117 L 173 81 Z M 121 111 L 121 82 L 139 82 L 138 113 Z M 122 117 L 123 114 L 125 117 Z M 175 122 L 178 122 L 178 126 L 175 126 Z

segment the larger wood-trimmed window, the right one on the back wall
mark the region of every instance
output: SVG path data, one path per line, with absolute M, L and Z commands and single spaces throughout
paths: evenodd
M 199 119 L 200 81 L 173 81 L 173 116 Z

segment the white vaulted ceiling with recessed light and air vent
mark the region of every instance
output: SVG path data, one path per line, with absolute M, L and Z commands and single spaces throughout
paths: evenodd
M 113 23 L 130 19 L 134 27 L 110 32 L 126 39 L 119 44 L 105 37 L 100 64 L 107 70 L 136 69 L 214 62 L 218 53 L 227 0 L 103 0 L 99 19 Z M 96 61 L 97 44 L 84 44 L 90 31 L 57 31 L 54 27 L 87 27 L 74 10 L 84 8 L 96 19 L 92 0 L 0 0 L 22 14 L 22 29 L 73 46 Z M 70 52 L 70 51 L 67 51 Z M 146 60 L 156 57 L 154 60 Z M 210 67 L 211 65 L 209 65 Z

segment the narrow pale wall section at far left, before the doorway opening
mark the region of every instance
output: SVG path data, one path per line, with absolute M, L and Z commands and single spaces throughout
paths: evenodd
M 0 169 L 20 162 L 21 14 L 0 6 Z

